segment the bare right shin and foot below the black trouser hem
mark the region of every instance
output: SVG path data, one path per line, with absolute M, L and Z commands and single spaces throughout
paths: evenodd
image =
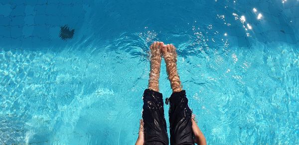
M 163 45 L 162 54 L 166 63 L 166 71 L 168 73 L 168 79 L 173 92 L 179 92 L 182 90 L 181 82 L 176 70 L 177 54 L 175 47 L 172 44 Z

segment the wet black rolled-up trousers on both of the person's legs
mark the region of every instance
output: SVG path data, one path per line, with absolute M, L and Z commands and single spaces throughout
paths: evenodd
M 191 110 L 185 91 L 174 92 L 169 102 L 170 145 L 194 145 Z M 162 94 L 146 89 L 143 96 L 145 145 L 168 145 Z

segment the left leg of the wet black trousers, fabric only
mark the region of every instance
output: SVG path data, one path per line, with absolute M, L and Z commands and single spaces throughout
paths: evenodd
M 143 100 L 145 145 L 168 145 L 162 94 L 146 89 Z

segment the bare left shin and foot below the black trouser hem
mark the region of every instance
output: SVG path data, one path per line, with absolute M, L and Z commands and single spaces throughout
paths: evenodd
M 150 49 L 149 89 L 159 91 L 159 77 L 161 67 L 161 48 L 163 42 L 153 42 Z

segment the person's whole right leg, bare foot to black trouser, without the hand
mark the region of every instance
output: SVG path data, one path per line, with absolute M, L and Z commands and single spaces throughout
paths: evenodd
M 166 99 L 169 102 L 169 126 L 171 145 L 194 145 L 191 114 L 185 90 L 182 90 L 181 81 L 176 69 L 175 47 L 163 45 L 162 54 L 166 63 L 166 71 L 172 89 L 171 96 Z

